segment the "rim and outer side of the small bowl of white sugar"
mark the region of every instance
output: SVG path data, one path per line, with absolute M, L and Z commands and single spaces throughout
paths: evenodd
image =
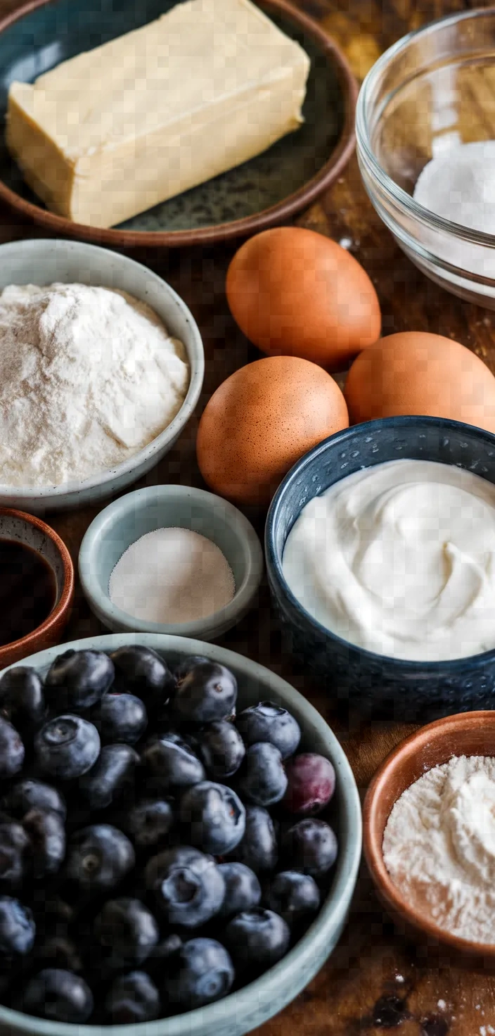
M 94 575 L 95 565 L 92 564 L 97 558 L 100 549 L 100 538 L 103 533 L 111 528 L 118 528 L 120 522 L 129 512 L 143 511 L 149 505 L 166 502 L 168 497 L 177 499 L 192 499 L 202 506 L 205 512 L 214 511 L 216 517 L 222 512 L 222 520 L 225 525 L 235 529 L 238 539 L 242 543 L 243 555 L 242 564 L 244 573 L 234 597 L 229 604 L 217 611 L 211 612 L 205 618 L 198 618 L 188 623 L 151 623 L 144 618 L 137 618 L 127 611 L 123 611 L 113 604 L 108 591 L 103 589 L 101 582 L 97 575 Z M 187 526 L 185 526 L 187 527 Z M 93 571 L 91 571 L 93 569 Z M 117 622 L 119 625 L 134 633 L 170 633 L 176 636 L 193 637 L 201 639 L 202 634 L 210 631 L 211 627 L 222 627 L 227 629 L 237 623 L 248 610 L 253 598 L 258 593 L 264 570 L 263 550 L 258 536 L 248 518 L 229 500 L 209 493 L 205 489 L 197 489 L 195 486 L 182 486 L 164 484 L 157 486 L 147 486 L 144 489 L 135 489 L 125 493 L 117 500 L 109 503 L 100 511 L 84 534 L 79 551 L 79 578 L 83 593 L 90 604 L 94 604 L 99 614 L 104 614 L 109 622 Z M 101 620 L 104 621 L 104 620 Z M 214 632 L 210 635 L 216 635 Z M 220 634 L 217 634 L 220 635 Z

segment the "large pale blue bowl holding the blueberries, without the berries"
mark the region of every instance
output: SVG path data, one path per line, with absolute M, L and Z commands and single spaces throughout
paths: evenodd
M 271 698 L 293 713 L 302 729 L 302 748 L 326 755 L 336 768 L 334 823 L 340 852 L 333 882 L 316 921 L 287 956 L 262 978 L 216 1004 L 157 1021 L 113 1027 L 56 1025 L 0 1007 L 2 1036 L 242 1036 L 278 1014 L 308 985 L 330 955 L 346 923 L 361 852 L 359 796 L 336 736 L 316 709 L 293 687 L 264 666 L 216 644 L 155 633 L 118 633 L 74 640 L 32 655 L 20 664 L 35 666 L 45 673 L 54 658 L 68 648 L 113 651 L 129 643 L 153 648 L 172 663 L 188 655 L 205 655 L 229 666 L 237 677 L 240 709 Z

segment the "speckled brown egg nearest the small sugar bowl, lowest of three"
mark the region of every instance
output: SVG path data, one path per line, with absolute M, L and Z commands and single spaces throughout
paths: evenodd
M 267 505 L 292 464 L 348 424 L 344 396 L 321 367 L 296 356 L 257 359 L 231 374 L 207 403 L 198 463 L 221 496 Z

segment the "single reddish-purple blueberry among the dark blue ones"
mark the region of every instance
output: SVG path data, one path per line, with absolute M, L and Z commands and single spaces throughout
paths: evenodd
M 287 792 L 284 806 L 289 813 L 310 816 L 319 813 L 336 789 L 336 771 L 324 755 L 304 752 L 287 764 Z

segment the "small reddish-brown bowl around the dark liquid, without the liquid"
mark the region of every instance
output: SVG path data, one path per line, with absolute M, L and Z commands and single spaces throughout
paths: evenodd
M 55 576 L 55 604 L 40 626 L 10 643 L 0 646 L 0 669 L 33 652 L 60 642 L 74 599 L 74 566 L 63 540 L 50 525 L 24 511 L 0 508 L 0 539 L 24 543 L 37 551 Z

